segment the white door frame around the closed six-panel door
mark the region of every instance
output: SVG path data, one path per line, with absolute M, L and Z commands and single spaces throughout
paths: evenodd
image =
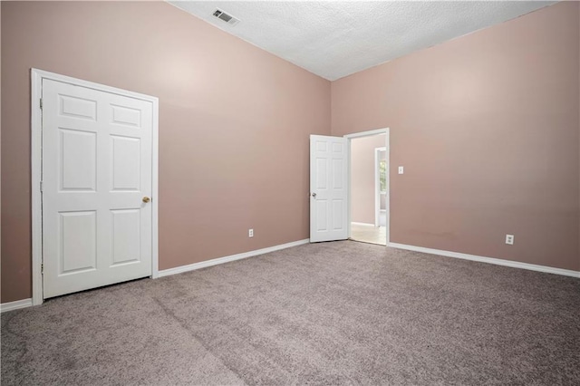
M 159 174 L 159 99 L 150 95 L 129 92 L 99 83 L 82 81 L 80 79 L 61 75 L 43 70 L 31 69 L 31 171 L 32 171 L 32 234 L 33 234 L 33 305 L 43 304 L 43 196 L 41 193 L 42 167 L 43 167 L 43 132 L 42 132 L 42 110 L 41 97 L 43 95 L 43 79 L 50 79 L 56 82 L 65 82 L 78 85 L 100 92 L 110 92 L 122 96 L 127 96 L 142 101 L 150 101 L 153 110 L 153 138 L 152 138 L 152 179 L 151 179 L 151 206 L 152 206 L 152 232 L 151 237 L 151 277 L 159 277 L 159 227 L 158 227 L 158 174 Z

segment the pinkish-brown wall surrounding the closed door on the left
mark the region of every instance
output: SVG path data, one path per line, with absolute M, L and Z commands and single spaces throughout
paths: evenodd
M 1 6 L 3 303 L 31 296 L 31 67 L 160 98 L 160 269 L 308 237 L 330 82 L 162 2 Z

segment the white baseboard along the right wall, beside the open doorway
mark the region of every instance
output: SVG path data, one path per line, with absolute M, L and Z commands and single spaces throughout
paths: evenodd
M 461 254 L 459 252 L 450 252 L 450 251 L 443 251 L 440 249 L 424 248 L 422 246 L 407 246 L 405 244 L 398 244 L 398 243 L 388 243 L 387 246 L 391 246 L 393 248 L 399 248 L 399 249 L 407 249 L 409 251 L 422 252 L 422 253 L 431 254 L 431 255 L 455 257 L 455 258 L 460 258 L 460 259 L 464 259 L 464 260 L 478 261 L 480 263 L 505 265 L 505 266 L 511 266 L 512 268 L 522 268 L 522 269 L 528 269 L 530 271 L 546 272 L 547 274 L 565 275 L 565 276 L 572 276 L 572 277 L 580 278 L 580 271 L 572 271 L 570 269 L 555 268 L 553 266 L 520 263 L 517 261 L 503 260 L 503 259 L 493 258 L 493 257 Z

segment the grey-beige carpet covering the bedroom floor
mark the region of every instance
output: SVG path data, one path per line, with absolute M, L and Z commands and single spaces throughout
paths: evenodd
M 580 384 L 580 280 L 350 241 L 2 314 L 2 384 Z

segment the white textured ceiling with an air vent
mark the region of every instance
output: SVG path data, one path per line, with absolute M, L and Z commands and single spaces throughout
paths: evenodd
M 505 22 L 540 1 L 169 1 L 288 62 L 334 81 L 406 53 Z M 241 20 L 229 25 L 216 8 Z

